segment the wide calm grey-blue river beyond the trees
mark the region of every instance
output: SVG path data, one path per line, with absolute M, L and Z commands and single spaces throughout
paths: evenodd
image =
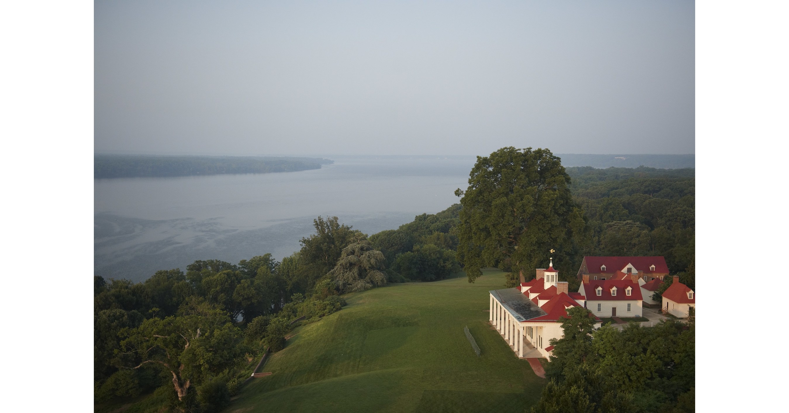
M 197 259 L 281 260 L 337 216 L 372 235 L 435 214 L 466 189 L 475 158 L 332 158 L 288 173 L 94 182 L 94 273 L 143 281 Z

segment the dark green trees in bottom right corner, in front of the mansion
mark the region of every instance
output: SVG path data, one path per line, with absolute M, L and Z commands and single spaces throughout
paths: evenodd
M 549 382 L 533 413 L 695 411 L 692 320 L 594 330 L 585 308 L 567 313 L 564 337 L 551 340 Z

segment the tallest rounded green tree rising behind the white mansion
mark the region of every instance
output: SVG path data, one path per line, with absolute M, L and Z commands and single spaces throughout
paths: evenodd
M 584 215 L 570 195 L 570 177 L 548 149 L 503 147 L 477 157 L 461 198 L 458 259 L 469 282 L 486 266 L 525 273 L 548 261 L 570 262 Z M 572 270 L 560 268 L 560 270 Z

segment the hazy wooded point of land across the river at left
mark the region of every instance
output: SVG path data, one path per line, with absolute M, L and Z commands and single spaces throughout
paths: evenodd
M 219 173 L 270 173 L 320 169 L 323 158 L 258 156 L 148 156 L 96 154 L 93 177 L 185 177 Z

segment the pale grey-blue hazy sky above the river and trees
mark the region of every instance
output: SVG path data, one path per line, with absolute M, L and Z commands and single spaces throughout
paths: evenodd
M 95 2 L 97 152 L 694 143 L 694 2 Z

